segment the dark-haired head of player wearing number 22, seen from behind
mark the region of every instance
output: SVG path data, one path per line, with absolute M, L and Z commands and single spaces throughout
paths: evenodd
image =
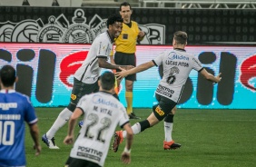
M 104 72 L 100 77 L 103 90 L 109 91 L 113 88 L 115 77 L 112 72 Z

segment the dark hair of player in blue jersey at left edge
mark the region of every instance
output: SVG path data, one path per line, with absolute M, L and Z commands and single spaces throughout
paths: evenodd
M 0 70 L 0 78 L 5 87 L 13 86 L 16 78 L 15 68 L 11 65 L 4 65 Z

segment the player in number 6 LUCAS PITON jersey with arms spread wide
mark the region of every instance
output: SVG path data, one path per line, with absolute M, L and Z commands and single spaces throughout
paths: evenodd
M 221 74 L 218 74 L 216 77 L 209 74 L 195 56 L 186 53 L 184 50 L 186 44 L 187 34 L 182 31 L 175 32 L 172 41 L 173 50 L 167 50 L 158 55 L 153 61 L 141 64 L 131 70 L 123 70 L 120 73 L 116 73 L 117 77 L 123 78 L 128 74 L 143 72 L 154 65 L 163 66 L 162 80 L 155 91 L 155 97 L 158 104 L 153 106 L 153 113 L 151 113 L 146 120 L 140 123 L 135 123 L 132 126 L 133 134 L 143 132 L 145 129 L 161 122 L 162 119 L 164 119 L 164 122 L 166 123 L 171 120 L 169 115 L 175 105 L 179 102 L 182 96 L 182 89 L 192 69 L 198 71 L 198 73 L 202 74 L 205 79 L 214 83 L 219 83 L 221 81 Z M 125 131 L 115 133 L 113 142 L 114 152 L 117 151 L 119 144 L 125 137 Z M 169 139 L 170 138 L 171 136 Z M 168 149 L 168 146 L 170 148 L 172 144 L 172 141 L 163 141 L 163 148 Z M 180 146 L 180 144 L 174 145 L 172 149 L 179 148 Z

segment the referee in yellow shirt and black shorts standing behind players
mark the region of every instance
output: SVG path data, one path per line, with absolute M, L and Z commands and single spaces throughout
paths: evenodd
M 122 33 L 115 40 L 115 54 L 111 56 L 113 64 L 133 65 L 136 66 L 136 43 L 143 40 L 145 33 L 139 29 L 136 22 L 131 20 L 133 14 L 132 6 L 123 2 L 120 5 L 119 13 L 123 18 Z M 120 70 L 117 69 L 117 72 Z M 136 74 L 125 77 L 125 99 L 127 103 L 127 113 L 130 119 L 140 119 L 133 113 L 133 82 L 136 81 Z M 117 80 L 120 85 L 121 80 Z

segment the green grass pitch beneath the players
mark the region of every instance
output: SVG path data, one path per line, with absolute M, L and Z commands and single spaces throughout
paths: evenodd
M 36 108 L 41 136 L 54 123 L 63 108 Z M 134 109 L 145 119 L 151 109 Z M 132 120 L 131 124 L 136 123 Z M 78 132 L 76 127 L 76 133 Z M 119 128 L 118 128 L 119 129 Z M 27 128 L 26 128 L 27 130 Z M 33 142 L 28 131 L 25 149 L 28 167 L 61 167 L 69 156 L 71 145 L 64 145 L 67 124 L 55 135 L 60 150 L 49 150 L 44 142 L 40 156 L 34 156 Z M 119 151 L 108 153 L 105 167 L 254 167 L 256 166 L 256 111 L 254 110 L 192 110 L 178 109 L 174 117 L 172 138 L 181 143 L 178 150 L 164 151 L 163 122 L 143 133 L 134 135 L 132 162 L 120 161 Z

